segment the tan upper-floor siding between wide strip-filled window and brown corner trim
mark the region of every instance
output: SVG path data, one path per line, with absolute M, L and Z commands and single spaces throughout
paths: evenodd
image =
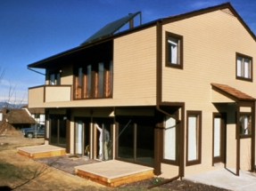
M 114 99 L 150 99 L 156 96 L 156 28 L 140 30 L 114 40 Z

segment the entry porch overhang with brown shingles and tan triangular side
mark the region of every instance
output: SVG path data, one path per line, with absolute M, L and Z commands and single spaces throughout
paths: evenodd
M 212 103 L 235 103 L 239 101 L 255 101 L 252 96 L 236 90 L 226 84 L 211 83 L 211 102 Z

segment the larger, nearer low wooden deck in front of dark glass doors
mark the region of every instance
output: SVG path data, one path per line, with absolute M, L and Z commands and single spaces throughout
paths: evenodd
M 152 167 L 115 160 L 76 166 L 75 171 L 78 176 L 107 187 L 116 187 L 154 176 Z

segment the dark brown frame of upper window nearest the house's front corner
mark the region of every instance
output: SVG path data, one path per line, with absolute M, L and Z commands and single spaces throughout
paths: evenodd
M 168 37 L 177 38 L 179 41 L 178 44 L 178 64 L 173 64 L 169 62 L 169 44 L 168 44 Z M 178 68 L 183 69 L 183 36 L 179 36 L 174 33 L 170 33 L 168 31 L 165 32 L 165 66 L 169 68 Z

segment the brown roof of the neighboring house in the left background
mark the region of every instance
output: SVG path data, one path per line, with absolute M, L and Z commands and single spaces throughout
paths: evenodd
M 8 123 L 36 123 L 25 109 L 10 109 L 9 112 L 4 116 Z

